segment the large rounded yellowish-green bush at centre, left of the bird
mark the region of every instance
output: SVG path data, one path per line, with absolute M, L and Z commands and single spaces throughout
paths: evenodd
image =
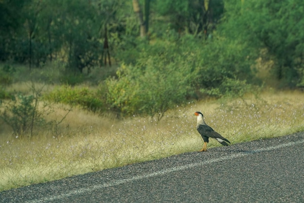
M 118 78 L 106 81 L 107 102 L 123 114 L 158 115 L 191 93 L 191 53 L 177 44 L 156 42 L 143 49 L 136 65 L 122 65 Z

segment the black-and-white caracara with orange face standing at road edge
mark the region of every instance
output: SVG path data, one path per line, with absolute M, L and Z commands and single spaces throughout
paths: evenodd
M 214 131 L 214 129 L 212 129 L 210 126 L 208 126 L 205 123 L 205 121 L 203 119 L 203 113 L 201 113 L 199 111 L 196 111 L 194 113 L 194 115 L 197 116 L 196 129 L 202 135 L 203 141 L 204 141 L 203 148 L 199 151 L 207 151 L 207 143 L 209 142 L 209 137 L 212 137 L 212 138 L 216 139 L 220 144 L 222 144 L 224 146 L 228 146 L 228 144 L 226 142 L 230 143 L 229 140 L 222 137 L 219 133 Z

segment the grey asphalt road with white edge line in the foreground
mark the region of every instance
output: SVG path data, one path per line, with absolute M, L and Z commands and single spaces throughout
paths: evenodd
M 304 132 L 0 192 L 1 203 L 304 203 Z

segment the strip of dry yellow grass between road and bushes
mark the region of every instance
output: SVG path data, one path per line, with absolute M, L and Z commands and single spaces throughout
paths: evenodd
M 236 144 L 304 130 L 304 93 L 270 92 L 259 98 L 200 101 L 176 107 L 160 122 L 148 117 L 125 120 L 74 110 L 58 137 L 40 131 L 31 140 L 0 131 L 0 191 L 63 177 L 158 159 L 202 148 L 195 111 Z M 49 119 L 64 115 L 58 109 Z M 211 140 L 208 148 L 220 146 Z M 208 152 L 206 152 L 208 153 Z

